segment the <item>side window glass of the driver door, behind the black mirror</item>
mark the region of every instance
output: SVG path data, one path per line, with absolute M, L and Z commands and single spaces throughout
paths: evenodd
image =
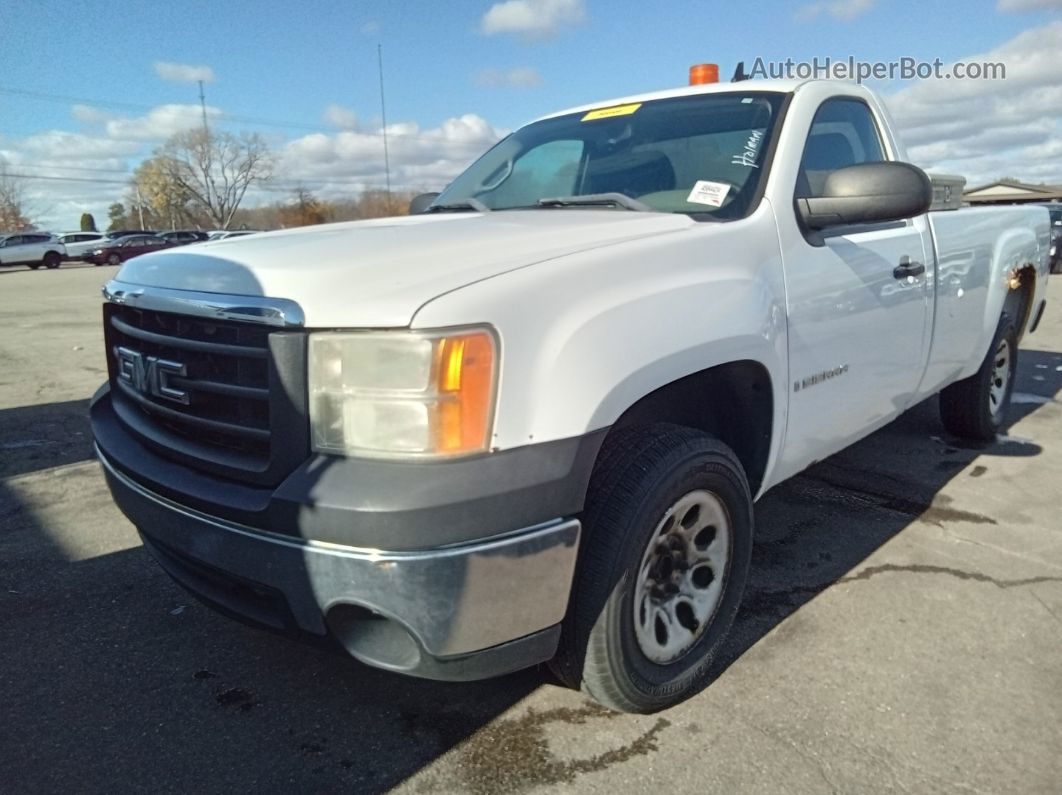
M 796 197 L 822 195 L 826 177 L 837 169 L 885 160 L 877 124 L 859 100 L 827 100 L 815 115 L 804 144 Z

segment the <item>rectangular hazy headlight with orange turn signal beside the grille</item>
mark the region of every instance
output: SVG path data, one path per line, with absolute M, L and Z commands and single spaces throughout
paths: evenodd
M 447 457 L 491 438 L 497 345 L 486 329 L 310 334 L 313 449 Z

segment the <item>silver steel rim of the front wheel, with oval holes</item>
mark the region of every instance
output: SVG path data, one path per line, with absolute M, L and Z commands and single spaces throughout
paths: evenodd
M 634 590 L 634 634 L 650 661 L 680 659 L 712 624 L 726 585 L 732 535 L 726 507 L 712 491 L 689 491 L 664 512 Z

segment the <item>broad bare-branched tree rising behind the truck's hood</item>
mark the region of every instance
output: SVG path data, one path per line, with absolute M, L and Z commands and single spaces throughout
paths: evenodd
M 177 133 L 156 153 L 167 190 L 187 194 L 219 228 L 227 229 L 247 188 L 272 176 L 273 156 L 258 135 L 212 129 Z

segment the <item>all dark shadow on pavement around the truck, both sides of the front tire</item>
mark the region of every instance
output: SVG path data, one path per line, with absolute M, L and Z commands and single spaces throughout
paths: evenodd
M 1062 355 L 1023 351 L 1021 366 L 1017 391 L 1032 398 L 1015 403 L 1015 420 L 1062 386 Z M 0 433 L 50 421 L 87 432 L 84 401 L 0 413 Z M 59 463 L 82 460 L 87 439 L 62 449 Z M 993 456 L 1039 451 L 960 446 L 930 400 L 772 490 L 757 506 L 752 582 L 719 671 L 915 518 L 998 521 L 940 489 L 979 477 Z M 12 448 L 3 473 L 41 468 L 36 452 Z M 24 507 L 0 481 L 0 766 L 15 791 L 378 792 L 550 681 L 534 670 L 467 685 L 378 672 L 215 615 L 132 530 L 119 533 L 126 549 L 71 560 Z M 116 509 L 97 513 L 86 533 L 124 526 Z M 515 753 L 498 747 L 478 774 L 496 765 L 504 781 Z

